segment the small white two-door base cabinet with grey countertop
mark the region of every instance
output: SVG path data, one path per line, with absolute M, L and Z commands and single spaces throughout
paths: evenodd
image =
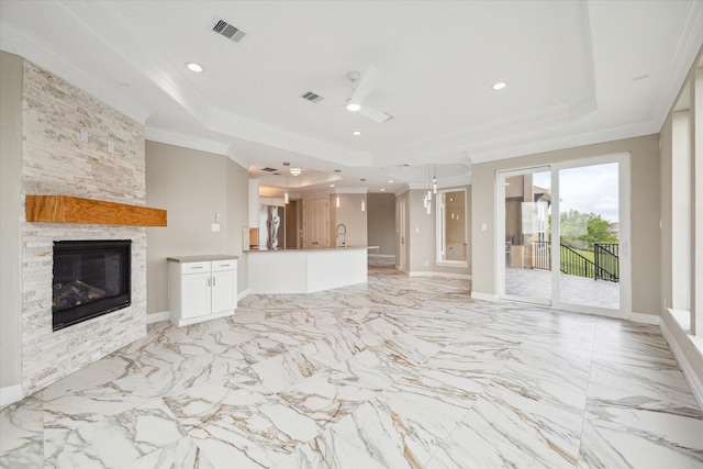
M 178 326 L 234 314 L 237 257 L 169 257 L 168 297 L 170 320 Z

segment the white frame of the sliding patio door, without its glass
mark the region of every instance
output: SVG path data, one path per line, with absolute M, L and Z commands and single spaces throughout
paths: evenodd
M 632 313 L 632 258 L 631 258 L 631 155 L 628 152 L 607 154 L 602 156 L 563 160 L 534 167 L 499 170 L 495 174 L 495 272 L 496 292 L 499 300 L 518 301 L 523 303 L 540 304 L 554 309 L 595 313 L 612 317 L 625 317 Z M 584 166 L 596 166 L 616 163 L 618 164 L 618 223 L 620 223 L 620 309 L 606 309 L 581 304 L 566 303 L 560 300 L 560 270 L 557 267 L 561 263 L 559 243 L 561 232 L 559 226 L 559 170 Z M 513 176 L 522 176 L 533 172 L 551 172 L 551 299 L 544 301 L 505 293 L 505 179 Z M 556 214 L 556 215 L 555 215 Z M 556 223 L 555 223 L 556 222 Z

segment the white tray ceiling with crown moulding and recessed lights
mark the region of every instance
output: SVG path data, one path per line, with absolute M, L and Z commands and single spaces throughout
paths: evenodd
M 216 19 L 246 37 L 215 34 Z M 701 1 L 0 2 L 2 49 L 149 139 L 254 177 L 302 167 L 261 177 L 300 191 L 467 183 L 471 161 L 657 133 L 702 43 Z M 365 103 L 393 115 L 381 124 L 343 105 L 347 72 L 369 65 L 382 79 Z

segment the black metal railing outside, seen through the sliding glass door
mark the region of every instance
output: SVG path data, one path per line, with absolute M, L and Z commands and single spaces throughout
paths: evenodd
M 533 264 L 535 269 L 551 270 L 551 242 L 533 242 Z M 594 280 L 620 280 L 620 246 L 617 244 L 595 243 L 593 246 L 594 260 L 588 259 L 574 249 L 560 243 L 559 270 L 578 277 Z

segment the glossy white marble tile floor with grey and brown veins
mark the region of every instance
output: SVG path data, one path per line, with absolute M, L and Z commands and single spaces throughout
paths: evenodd
M 367 284 L 168 322 L 0 412 L 3 468 L 703 468 L 651 325 Z

